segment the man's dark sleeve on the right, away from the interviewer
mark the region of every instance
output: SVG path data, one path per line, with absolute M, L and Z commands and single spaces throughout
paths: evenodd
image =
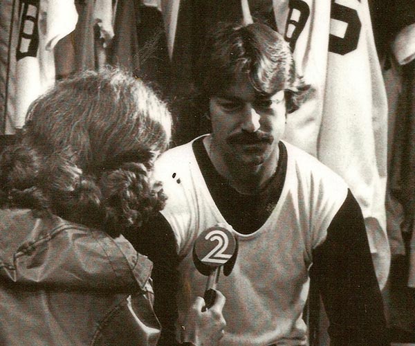
M 350 191 L 313 251 L 311 280 L 329 317 L 331 346 L 389 345 L 365 222 Z

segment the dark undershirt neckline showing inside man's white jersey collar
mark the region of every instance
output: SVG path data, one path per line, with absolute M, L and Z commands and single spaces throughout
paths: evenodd
M 194 140 L 192 149 L 216 207 L 238 233 L 255 233 L 265 224 L 281 197 L 287 169 L 286 146 L 282 141 L 278 143 L 277 170 L 266 188 L 257 194 L 241 194 L 216 171 L 203 145 L 203 138 Z

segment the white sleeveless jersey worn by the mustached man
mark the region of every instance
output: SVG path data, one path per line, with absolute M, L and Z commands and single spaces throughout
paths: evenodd
M 311 252 L 324 242 L 329 224 L 347 197 L 347 185 L 312 156 L 287 143 L 286 147 L 286 181 L 277 206 L 255 233 L 233 231 L 239 241 L 237 261 L 218 285 L 226 297 L 223 314 L 227 322 L 220 345 L 306 345 L 302 311 Z M 185 257 L 179 266 L 180 325 L 195 296 L 203 296 L 207 280 L 192 261 L 195 239 L 216 224 L 231 225 L 205 185 L 191 143 L 163 154 L 155 174 L 169 196 L 162 213 L 174 230 L 179 255 Z

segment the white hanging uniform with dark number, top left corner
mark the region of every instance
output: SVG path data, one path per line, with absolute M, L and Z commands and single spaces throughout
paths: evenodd
M 12 12 L 17 26 L 10 30 L 7 67 L 15 98 L 6 116 L 6 134 L 24 126 L 30 103 L 55 82 L 53 48 L 77 22 L 73 0 L 14 1 Z

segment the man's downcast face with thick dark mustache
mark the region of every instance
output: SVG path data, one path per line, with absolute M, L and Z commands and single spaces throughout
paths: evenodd
M 212 145 L 225 162 L 257 166 L 275 159 L 285 130 L 284 90 L 264 98 L 243 76 L 209 105 Z

